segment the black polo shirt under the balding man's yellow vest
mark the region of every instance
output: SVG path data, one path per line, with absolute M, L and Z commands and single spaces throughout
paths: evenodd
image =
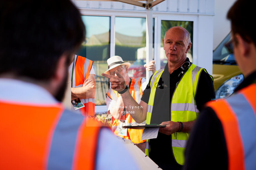
M 189 62 L 189 59 L 187 60 Z M 191 64 L 191 63 L 190 63 Z M 183 73 L 182 73 L 183 71 Z M 170 102 L 174 93 L 176 84 L 180 81 L 184 70 L 178 68 L 172 74 L 168 71 L 168 63 L 166 64 L 163 74 L 160 77 L 159 84 L 157 85 L 154 105 L 151 116 L 152 124 L 160 124 L 162 122 L 170 121 Z M 152 76 L 151 76 L 152 78 Z M 150 80 L 151 80 L 150 78 Z M 150 80 L 146 89 L 143 92 L 141 100 L 148 103 L 150 96 Z M 183 97 L 183 96 L 181 96 Z M 199 77 L 198 90 L 195 96 L 196 104 L 199 110 L 203 105 L 211 100 L 215 100 L 215 91 L 213 81 L 208 73 L 202 71 Z M 149 157 L 162 169 L 181 169 L 174 160 L 171 135 L 158 133 L 156 139 L 151 139 L 149 142 L 150 153 Z

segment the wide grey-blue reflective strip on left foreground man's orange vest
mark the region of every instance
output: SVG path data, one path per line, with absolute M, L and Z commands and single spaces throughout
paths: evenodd
M 47 169 L 72 169 L 73 155 L 77 141 L 77 133 L 83 122 L 82 115 L 73 115 L 64 110 L 53 132 L 51 147 L 48 157 Z M 68 121 L 67 121 L 68 120 Z M 69 125 L 67 125 L 68 123 Z M 72 130 L 66 129 L 72 125 Z M 65 141 L 65 142 L 63 142 Z M 65 154 L 63 153 L 65 149 Z

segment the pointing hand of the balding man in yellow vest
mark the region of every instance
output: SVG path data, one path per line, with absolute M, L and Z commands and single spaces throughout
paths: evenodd
M 101 75 L 109 78 L 109 81 L 111 83 L 111 89 L 115 90 L 115 91 L 122 91 L 125 89 L 126 84 L 125 84 L 125 80 L 123 78 L 123 76 L 116 70 L 115 74 L 117 76 L 111 76 L 109 74 L 104 74 L 102 73 Z

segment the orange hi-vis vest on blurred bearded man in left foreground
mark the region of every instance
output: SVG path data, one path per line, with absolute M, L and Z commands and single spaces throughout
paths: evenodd
M 100 127 L 60 104 L 0 101 L 1 169 L 95 169 Z M 90 120 L 91 121 L 91 120 Z

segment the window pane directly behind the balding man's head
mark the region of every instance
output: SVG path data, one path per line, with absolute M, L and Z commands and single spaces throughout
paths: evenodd
M 192 42 L 192 47 L 187 53 L 187 57 L 189 58 L 190 62 L 193 62 L 193 21 L 169 21 L 169 20 L 161 20 L 161 41 L 163 42 L 163 38 L 165 35 L 165 32 L 171 28 L 171 27 L 176 27 L 180 26 L 188 30 L 190 33 L 190 39 Z M 164 68 L 164 66 L 167 63 L 167 59 L 165 56 L 164 48 L 163 48 L 163 43 L 161 43 L 161 49 L 160 49 L 160 59 L 161 59 L 161 68 Z

